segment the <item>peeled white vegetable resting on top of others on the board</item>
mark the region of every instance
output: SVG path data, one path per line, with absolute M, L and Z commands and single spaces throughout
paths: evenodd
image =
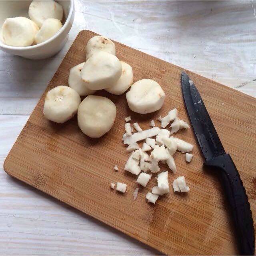
M 87 60 L 81 70 L 81 78 L 90 90 L 113 86 L 122 74 L 118 58 L 107 52 L 98 52 Z

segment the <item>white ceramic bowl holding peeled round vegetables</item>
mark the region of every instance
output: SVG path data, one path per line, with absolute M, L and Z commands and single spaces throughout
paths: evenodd
M 28 7 L 32 1 L 0 1 L 0 30 L 6 18 L 28 17 Z M 74 21 L 74 1 L 56 1 L 62 5 L 64 12 L 63 27 L 53 37 L 40 44 L 15 47 L 5 45 L 0 40 L 0 50 L 24 58 L 38 60 L 48 58 L 59 52 L 68 40 L 68 32 Z

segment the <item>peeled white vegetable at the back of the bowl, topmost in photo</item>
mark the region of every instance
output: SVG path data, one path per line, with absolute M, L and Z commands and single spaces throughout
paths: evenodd
M 44 20 L 54 18 L 62 20 L 63 9 L 55 1 L 32 1 L 28 8 L 28 16 L 41 28 Z

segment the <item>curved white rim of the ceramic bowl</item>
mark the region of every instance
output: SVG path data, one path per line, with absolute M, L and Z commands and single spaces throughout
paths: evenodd
M 49 42 L 53 41 L 56 37 L 58 37 L 63 31 L 64 29 L 68 26 L 68 22 L 71 20 L 72 17 L 72 13 L 74 10 L 74 0 L 70 0 L 70 9 L 68 12 L 68 17 L 65 20 L 65 23 L 63 24 L 62 28 L 52 37 L 50 37 L 49 39 L 47 39 L 46 41 L 40 43 L 40 44 L 35 44 L 35 45 L 30 45 L 30 46 L 9 46 L 7 44 L 4 44 L 3 42 L 0 42 L 0 47 L 9 49 L 9 50 L 29 50 L 29 49 L 35 49 L 35 48 L 39 48 L 40 46 L 43 46 L 45 44 L 48 44 Z

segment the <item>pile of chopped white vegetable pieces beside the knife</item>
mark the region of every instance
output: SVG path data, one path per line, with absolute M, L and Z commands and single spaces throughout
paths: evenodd
M 146 187 L 153 174 L 161 171 L 158 166 L 159 162 L 166 164 L 176 174 L 177 168 L 173 156 L 177 150 L 186 153 L 186 162 L 192 160 L 193 154 L 188 152 L 191 152 L 194 146 L 172 136 L 180 129 L 190 128 L 186 122 L 178 118 L 178 110 L 176 108 L 170 110 L 163 118 L 161 116 L 158 118 L 158 121 L 161 122 L 162 129 L 156 127 L 154 120 L 152 120 L 150 122 L 152 128 L 148 130 L 142 130 L 138 123 L 134 123 L 133 127 L 137 132 L 133 132 L 132 126 L 129 123 L 132 121 L 131 117 L 128 116 L 125 118 L 125 121 L 124 128 L 126 133 L 123 135 L 122 140 L 124 144 L 128 145 L 126 151 L 131 152 L 131 154 L 124 166 L 124 170 L 138 175 L 136 182 L 141 186 Z M 172 122 L 170 125 L 171 131 L 165 129 L 170 122 Z M 155 136 L 156 138 L 153 138 Z M 142 148 L 140 148 L 137 142 L 142 140 L 144 142 Z M 149 151 L 151 151 L 150 155 L 147 153 Z M 118 167 L 115 166 L 114 170 L 118 170 Z M 174 179 L 172 187 L 174 192 L 188 192 L 190 190 L 184 176 Z M 110 188 L 114 189 L 115 183 L 111 182 Z M 126 192 L 126 184 L 117 182 L 116 190 L 122 193 Z M 134 200 L 136 200 L 138 192 L 139 188 L 136 188 L 133 193 Z M 168 170 L 162 171 L 158 174 L 157 186 L 152 188 L 152 192 L 146 194 L 146 199 L 148 202 L 154 204 L 159 196 L 169 192 Z

